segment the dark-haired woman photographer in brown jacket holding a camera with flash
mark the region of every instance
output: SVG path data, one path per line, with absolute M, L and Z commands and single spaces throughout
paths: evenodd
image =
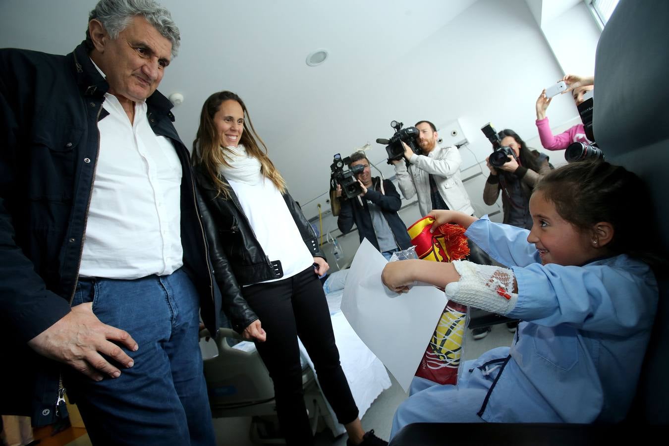
M 530 195 L 537 181 L 552 169 L 549 157 L 529 150 L 513 130 L 502 130 L 498 137 L 501 148 L 509 147 L 513 155 L 507 155 L 508 161 L 499 166 L 494 165 L 497 164 L 494 159 L 490 162 L 494 155 L 486 158 L 490 176 L 483 189 L 483 201 L 488 206 L 494 205 L 502 191 L 504 223 L 531 229 Z

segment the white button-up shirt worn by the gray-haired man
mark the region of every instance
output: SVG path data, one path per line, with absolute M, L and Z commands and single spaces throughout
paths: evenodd
M 104 98 L 109 115 L 98 122 L 100 155 L 79 274 L 170 274 L 183 265 L 181 162 L 169 139 L 151 129 L 146 102 L 135 104 L 131 124 L 116 96 Z

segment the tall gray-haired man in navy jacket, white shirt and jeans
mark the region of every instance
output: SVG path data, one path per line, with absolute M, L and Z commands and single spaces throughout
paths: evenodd
M 215 444 L 220 293 L 156 90 L 178 46 L 155 1 L 101 0 L 68 55 L 0 50 L 2 413 L 53 423 L 67 389 L 94 444 Z

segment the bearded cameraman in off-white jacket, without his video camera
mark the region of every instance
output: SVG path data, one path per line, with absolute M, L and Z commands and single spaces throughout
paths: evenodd
M 415 124 L 419 133 L 416 138 L 422 154 L 415 154 L 405 142 L 404 158 L 393 160 L 399 189 L 405 199 L 418 196 L 418 209 L 427 215 L 432 209 L 450 209 L 470 215 L 474 208 L 460 179 L 462 157 L 455 146 L 441 147 L 437 144 L 437 128 L 429 121 Z

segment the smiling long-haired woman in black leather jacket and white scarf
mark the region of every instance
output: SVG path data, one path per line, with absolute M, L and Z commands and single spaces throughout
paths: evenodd
M 339 364 L 318 281 L 328 264 L 316 235 L 236 94 L 218 92 L 205 101 L 193 164 L 223 310 L 234 330 L 256 342 L 274 382 L 286 443 L 313 444 L 302 397 L 300 336 L 324 395 L 349 433 L 349 444 L 387 444 L 363 431 Z

